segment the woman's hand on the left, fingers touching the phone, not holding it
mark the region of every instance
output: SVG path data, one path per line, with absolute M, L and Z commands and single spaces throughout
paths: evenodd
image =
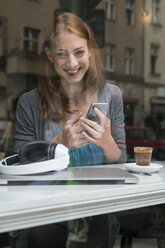
M 82 132 L 83 127 L 80 125 L 82 113 L 73 114 L 65 123 L 61 132 L 51 140 L 51 143 L 63 144 L 69 149 L 78 149 L 87 145 L 89 142 L 85 139 Z

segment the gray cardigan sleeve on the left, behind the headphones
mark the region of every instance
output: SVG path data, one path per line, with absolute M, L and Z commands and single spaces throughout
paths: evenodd
M 26 143 L 42 140 L 39 95 L 36 90 L 24 93 L 18 100 L 15 121 L 15 152 Z

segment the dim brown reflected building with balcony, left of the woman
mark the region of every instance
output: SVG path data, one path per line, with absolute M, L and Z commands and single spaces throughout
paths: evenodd
M 37 85 L 43 37 L 59 2 L 16 0 L 13 5 L 9 0 L 0 5 L 0 89 L 8 109 L 0 117 L 10 119 L 13 101 Z

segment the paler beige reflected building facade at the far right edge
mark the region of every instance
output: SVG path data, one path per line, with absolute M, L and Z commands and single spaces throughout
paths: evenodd
M 144 106 L 165 128 L 165 1 L 144 2 Z

